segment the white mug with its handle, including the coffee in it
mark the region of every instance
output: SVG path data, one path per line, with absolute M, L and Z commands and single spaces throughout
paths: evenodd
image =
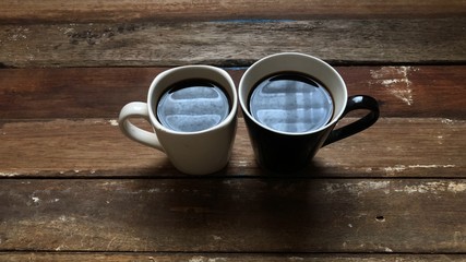
M 131 102 L 120 111 L 128 138 L 160 152 L 180 171 L 207 175 L 223 169 L 231 155 L 238 95 L 230 75 L 211 66 L 184 66 L 158 74 L 147 102 Z M 147 120 L 153 131 L 131 122 Z

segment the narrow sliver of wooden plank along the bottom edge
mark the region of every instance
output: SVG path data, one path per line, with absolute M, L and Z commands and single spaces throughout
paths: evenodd
M 4 262 L 16 261 L 101 261 L 101 262 L 282 262 L 282 261 L 303 261 L 303 262 L 444 262 L 464 261 L 463 254 L 309 254 L 309 253 L 138 253 L 138 252 L 0 252 L 0 260 Z

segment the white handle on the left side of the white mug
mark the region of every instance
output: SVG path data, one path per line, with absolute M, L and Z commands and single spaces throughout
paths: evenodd
M 146 103 L 131 102 L 121 108 L 120 116 L 118 118 L 118 126 L 120 127 L 121 132 L 143 145 L 165 152 L 158 141 L 157 134 L 140 129 L 130 122 L 130 118 L 136 117 L 144 118 L 146 121 L 151 122 Z

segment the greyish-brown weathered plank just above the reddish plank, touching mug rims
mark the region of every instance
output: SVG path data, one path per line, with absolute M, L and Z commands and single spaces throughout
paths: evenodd
M 7 24 L 0 25 L 0 62 L 9 68 L 189 63 L 238 67 L 266 55 L 292 50 L 340 64 L 464 63 L 464 24 L 465 16 Z

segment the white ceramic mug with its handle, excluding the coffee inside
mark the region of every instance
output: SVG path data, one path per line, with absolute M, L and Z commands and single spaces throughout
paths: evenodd
M 175 131 L 160 123 L 157 103 L 174 84 L 201 79 L 214 82 L 229 98 L 229 112 L 218 124 L 194 132 Z M 238 95 L 231 76 L 211 66 L 184 66 L 158 74 L 148 88 L 147 102 L 132 102 L 120 111 L 119 127 L 128 138 L 164 152 L 172 165 L 190 175 L 207 175 L 223 169 L 231 155 L 237 127 Z M 131 118 L 144 118 L 153 127 L 148 132 L 131 123 Z

